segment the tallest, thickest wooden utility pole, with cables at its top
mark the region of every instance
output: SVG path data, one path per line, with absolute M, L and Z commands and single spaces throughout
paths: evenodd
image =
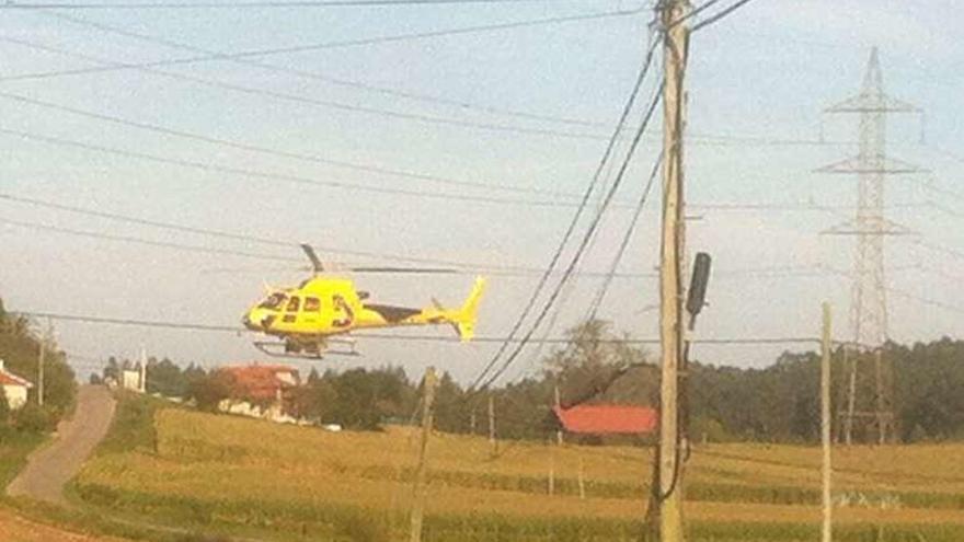
M 659 261 L 659 336 L 663 347 L 659 390 L 658 494 L 661 542 L 681 542 L 682 465 L 679 453 L 679 366 L 682 358 L 684 76 L 689 44 L 689 0 L 663 0 L 663 242 Z

